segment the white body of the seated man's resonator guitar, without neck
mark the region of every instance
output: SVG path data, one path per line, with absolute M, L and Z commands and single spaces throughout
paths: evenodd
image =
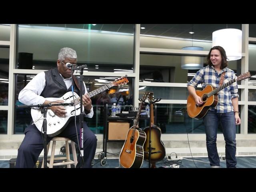
M 74 99 L 80 98 L 78 94 L 74 92 Z M 56 100 L 64 100 L 64 103 L 72 103 L 73 102 L 73 94 L 72 92 L 65 93 L 61 98 L 46 98 L 48 101 L 56 101 Z M 66 108 L 66 116 L 61 118 L 54 114 L 54 112 L 50 109 L 47 110 L 46 120 L 47 120 L 47 135 L 50 137 L 54 137 L 58 135 L 64 128 L 66 128 L 67 124 L 72 119 L 72 116 L 78 116 L 80 114 L 80 103 L 76 106 L 63 106 Z M 76 111 L 75 111 L 76 107 Z M 84 112 L 84 106 L 82 105 L 83 112 Z M 34 124 L 38 128 L 40 132 L 43 132 L 43 121 L 44 121 L 44 115 L 41 113 L 41 109 L 36 110 L 34 108 L 31 108 L 31 116 L 34 121 Z

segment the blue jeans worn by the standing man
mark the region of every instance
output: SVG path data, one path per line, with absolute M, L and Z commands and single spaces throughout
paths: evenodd
M 227 168 L 236 168 L 236 123 L 234 112 L 217 113 L 208 110 L 204 116 L 206 133 L 206 147 L 211 166 L 220 166 L 220 158 L 217 151 L 218 124 L 222 125 L 223 135 L 226 142 L 226 164 Z

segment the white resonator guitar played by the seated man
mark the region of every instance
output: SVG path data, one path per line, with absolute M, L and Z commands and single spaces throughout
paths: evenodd
M 127 76 L 127 75 L 126 75 Z M 117 80 L 114 80 L 111 83 L 108 83 L 96 90 L 93 90 L 89 93 L 86 93 L 90 98 L 92 96 L 95 96 L 104 90 L 107 90 L 113 86 L 120 86 L 128 83 L 128 79 L 125 77 L 121 77 Z M 47 135 L 50 137 L 54 137 L 58 135 L 60 132 L 66 128 L 68 123 L 71 120 L 71 117 L 78 116 L 80 114 L 80 96 L 74 92 L 74 97 L 72 91 L 65 93 L 62 97 L 60 98 L 46 98 L 48 101 L 56 101 L 56 100 L 64 100 L 63 103 L 72 103 L 74 106 L 64 106 L 66 108 L 66 116 L 61 118 L 57 115 L 54 114 L 54 112 L 50 109 L 48 109 L 46 120 L 47 120 Z M 82 105 L 82 110 L 84 111 L 84 106 Z M 75 113 L 76 112 L 76 113 Z M 34 108 L 31 108 L 31 116 L 34 121 L 34 124 L 36 125 L 36 128 L 42 132 L 42 125 L 43 125 L 43 120 L 44 116 L 41 113 L 41 110 L 36 110 Z

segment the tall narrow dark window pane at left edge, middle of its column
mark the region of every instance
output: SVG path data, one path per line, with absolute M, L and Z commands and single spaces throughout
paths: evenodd
M 8 105 L 9 47 L 0 47 L 0 105 Z

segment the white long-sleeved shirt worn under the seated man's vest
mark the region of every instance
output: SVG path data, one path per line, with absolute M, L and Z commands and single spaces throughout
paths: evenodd
M 60 74 L 62 77 L 62 75 Z M 62 77 L 63 78 L 63 77 Z M 70 78 L 63 78 L 67 89 L 71 86 L 72 81 Z M 40 72 L 37 74 L 19 93 L 18 100 L 25 105 L 38 105 L 43 104 L 46 98 L 40 96 L 45 88 L 45 73 Z M 85 93 L 87 92 L 86 86 L 84 84 Z M 92 118 L 93 108 L 91 108 L 90 113 L 86 114 L 86 117 Z

